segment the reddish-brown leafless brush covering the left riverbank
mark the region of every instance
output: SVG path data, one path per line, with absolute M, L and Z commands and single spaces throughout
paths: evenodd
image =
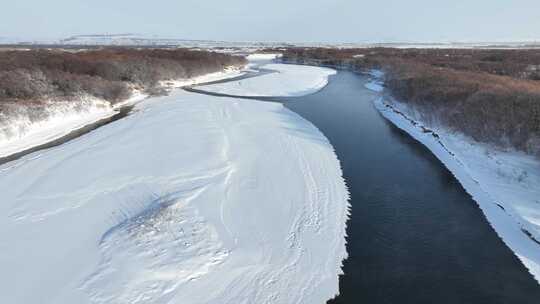
M 187 49 L 4 50 L 0 102 L 88 94 L 114 103 L 129 97 L 129 85 L 149 90 L 161 80 L 194 77 L 245 62 L 243 57 Z

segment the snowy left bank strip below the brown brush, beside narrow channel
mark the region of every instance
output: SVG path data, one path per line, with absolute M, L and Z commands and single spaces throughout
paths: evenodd
M 227 67 L 223 71 L 189 79 L 162 81 L 160 86 L 170 91 L 184 86 L 238 77 L 245 73 L 244 69 Z M 118 114 L 123 107 L 133 106 L 148 97 L 150 95 L 133 88 L 128 99 L 115 104 L 93 96 L 82 96 L 78 101 L 48 101 L 37 106 L 40 107 L 40 112 L 45 113 L 45 117 L 38 119 L 33 117 L 31 107 L 13 106 L 13 113 L 9 115 L 0 113 L 0 158 L 62 138 L 108 119 Z

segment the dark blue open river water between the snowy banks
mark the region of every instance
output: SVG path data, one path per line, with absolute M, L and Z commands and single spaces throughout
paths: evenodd
M 351 192 L 349 258 L 329 303 L 540 303 L 540 286 L 477 204 L 380 116 L 365 81 L 340 72 L 319 93 L 286 102 L 333 144 Z

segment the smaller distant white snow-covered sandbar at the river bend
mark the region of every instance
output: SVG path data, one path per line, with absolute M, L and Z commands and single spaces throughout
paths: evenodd
M 260 68 L 273 70 L 275 73 L 234 82 L 199 86 L 197 89 L 233 96 L 302 96 L 324 88 L 328 84 L 328 77 L 336 74 L 334 69 L 281 63 L 264 64 Z

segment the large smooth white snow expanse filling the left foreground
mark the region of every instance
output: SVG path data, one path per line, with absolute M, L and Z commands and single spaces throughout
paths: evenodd
M 0 193 L 0 303 L 311 304 L 338 293 L 340 164 L 279 103 L 147 99 L 0 166 Z

